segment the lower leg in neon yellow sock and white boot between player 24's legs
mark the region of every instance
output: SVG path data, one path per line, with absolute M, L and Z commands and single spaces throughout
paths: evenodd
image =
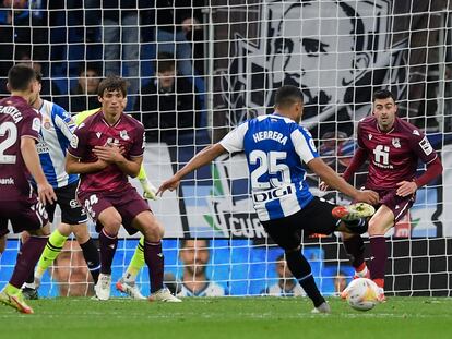
M 132 259 L 129 263 L 129 267 L 121 279 L 116 282 L 116 289 L 133 299 L 146 299 L 141 294 L 140 289 L 136 286 L 136 276 L 144 264 L 144 237 L 141 237 Z

